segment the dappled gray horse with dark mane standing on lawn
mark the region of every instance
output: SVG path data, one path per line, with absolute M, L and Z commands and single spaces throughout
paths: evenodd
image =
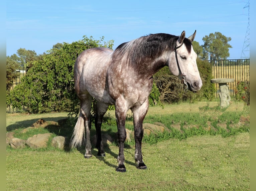
M 80 114 L 72 135 L 71 147 L 81 146 L 86 141 L 85 158 L 92 157 L 90 142 L 90 111 L 94 97 L 95 127 L 98 156 L 105 156 L 101 142 L 103 115 L 110 104 L 115 105 L 119 143 L 117 171 L 125 172 L 124 141 L 125 118 L 133 113 L 135 162 L 138 169 L 146 169 L 142 160 L 142 123 L 148 111 L 148 96 L 152 89 L 153 75 L 164 66 L 179 76 L 190 91 L 198 91 L 202 80 L 197 68 L 197 54 L 192 47 L 196 31 L 185 38 L 170 34 L 150 34 L 119 45 L 115 51 L 107 48 L 92 48 L 82 52 L 75 63 L 75 91 L 80 100 Z

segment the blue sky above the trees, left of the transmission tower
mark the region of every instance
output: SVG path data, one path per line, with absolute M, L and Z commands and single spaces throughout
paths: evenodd
M 114 47 L 144 35 L 169 33 L 195 41 L 210 33 L 231 37 L 229 59 L 240 59 L 248 25 L 247 0 L 6 1 L 6 55 L 19 48 L 42 54 L 84 35 L 114 40 Z

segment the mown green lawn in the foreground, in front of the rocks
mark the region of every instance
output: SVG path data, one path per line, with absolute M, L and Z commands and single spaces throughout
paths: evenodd
M 82 152 L 82 153 L 81 153 Z M 7 149 L 7 190 L 249 190 L 249 133 L 169 139 L 142 147 L 138 170 L 126 145 L 126 173 L 115 171 L 118 147 L 106 157 L 83 151 Z

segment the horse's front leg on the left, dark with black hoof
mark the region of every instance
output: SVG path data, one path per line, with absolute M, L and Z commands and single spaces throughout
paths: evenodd
M 127 110 L 120 108 L 116 104 L 116 122 L 117 122 L 117 136 L 119 144 L 119 153 L 117 157 L 118 167 L 116 171 L 126 172 L 124 165 L 124 141 L 126 139 L 126 130 L 125 130 L 125 118 Z

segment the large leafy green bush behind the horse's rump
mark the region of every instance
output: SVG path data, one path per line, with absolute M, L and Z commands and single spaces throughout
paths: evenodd
M 80 53 L 94 47 L 112 48 L 113 41 L 92 37 L 63 43 L 60 49 L 51 49 L 48 54 L 31 62 L 27 75 L 7 95 L 6 105 L 17 108 L 26 106 L 31 113 L 78 110 L 79 101 L 74 91 L 74 64 Z

